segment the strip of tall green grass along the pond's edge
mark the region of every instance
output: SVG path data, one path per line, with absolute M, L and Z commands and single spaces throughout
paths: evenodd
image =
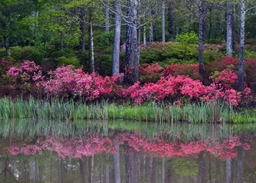
M 125 119 L 145 122 L 255 122 L 256 112 L 235 112 L 232 106 L 219 102 L 185 103 L 183 105 L 153 105 L 152 102 L 140 106 L 109 104 L 108 101 L 88 105 L 82 100 L 36 100 L 29 97 L 0 99 L 0 118 L 4 119 L 52 119 L 52 120 L 110 120 Z

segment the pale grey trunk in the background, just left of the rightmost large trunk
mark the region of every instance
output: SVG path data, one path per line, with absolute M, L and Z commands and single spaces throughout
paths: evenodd
M 232 55 L 232 5 L 230 4 L 232 0 L 227 0 L 227 49 L 226 55 Z

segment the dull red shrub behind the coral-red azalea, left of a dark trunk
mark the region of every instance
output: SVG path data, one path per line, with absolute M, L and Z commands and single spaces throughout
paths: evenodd
M 199 64 L 171 64 L 166 66 L 166 69 L 162 72 L 164 77 L 168 75 L 188 75 L 193 80 L 201 80 L 199 75 Z

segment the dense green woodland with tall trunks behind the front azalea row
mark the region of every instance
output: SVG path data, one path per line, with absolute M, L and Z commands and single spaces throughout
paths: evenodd
M 75 69 L 82 67 L 89 74 L 123 77 L 124 85 L 156 83 L 167 73 L 207 86 L 209 77 L 218 83 L 226 73 L 225 84 L 235 73 L 228 88 L 243 92 L 254 86 L 255 11 L 253 0 L 1 1 L 2 90 L 8 93 L 3 83 L 21 72 L 31 78 L 23 73 L 20 83 L 34 80 L 26 67 L 35 63 L 34 71 L 39 75 L 40 66 L 46 78 L 63 72 L 57 67 L 73 65 L 65 68 L 79 77 Z

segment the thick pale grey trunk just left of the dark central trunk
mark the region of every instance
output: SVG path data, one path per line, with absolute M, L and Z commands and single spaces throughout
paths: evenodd
M 121 36 L 121 4 L 120 1 L 115 2 L 115 30 L 114 30 L 114 45 L 113 45 L 113 62 L 112 75 L 119 74 L 119 54 L 120 54 L 120 36 Z

